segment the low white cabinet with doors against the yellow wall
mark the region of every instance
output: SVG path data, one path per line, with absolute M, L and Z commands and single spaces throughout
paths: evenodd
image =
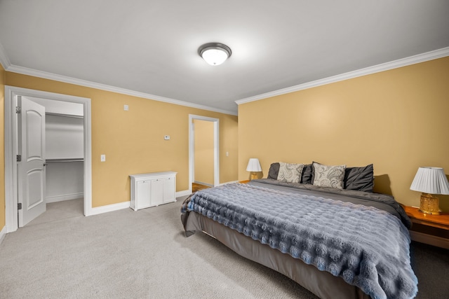
M 130 207 L 137 211 L 176 201 L 176 172 L 131 174 Z

